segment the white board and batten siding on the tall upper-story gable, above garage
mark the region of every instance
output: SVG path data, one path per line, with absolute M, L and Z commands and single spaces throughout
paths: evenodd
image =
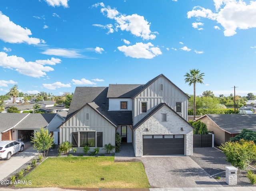
M 163 91 L 160 91 L 160 84 L 163 85 Z M 147 102 L 146 113 L 141 112 L 142 102 Z M 176 102 L 181 102 L 181 113 L 179 113 L 180 116 L 182 116 L 185 120 L 188 120 L 188 97 L 166 78 L 159 77 L 134 98 L 134 125 L 160 103 L 166 103 L 173 110 L 176 110 Z

